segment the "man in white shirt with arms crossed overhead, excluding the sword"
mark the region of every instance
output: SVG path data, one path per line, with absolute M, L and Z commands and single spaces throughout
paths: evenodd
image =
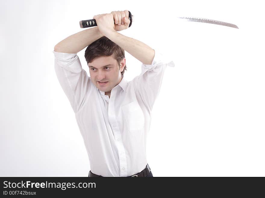
M 68 97 L 86 146 L 89 177 L 153 177 L 146 159 L 151 110 L 166 66 L 173 61 L 117 31 L 129 27 L 129 12 L 93 17 L 97 26 L 59 42 L 55 72 Z M 87 46 L 90 77 L 76 55 Z M 142 73 L 124 77 L 124 50 L 142 62 Z

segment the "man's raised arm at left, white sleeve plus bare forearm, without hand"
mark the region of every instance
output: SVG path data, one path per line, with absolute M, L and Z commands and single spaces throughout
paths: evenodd
M 77 52 L 102 36 L 98 27 L 93 27 L 68 36 L 54 47 L 55 73 L 75 113 L 91 91 L 90 77 L 82 68 Z

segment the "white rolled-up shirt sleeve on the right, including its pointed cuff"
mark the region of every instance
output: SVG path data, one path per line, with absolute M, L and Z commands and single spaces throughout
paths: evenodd
M 152 64 L 142 63 L 141 74 L 134 78 L 136 92 L 141 96 L 149 112 L 151 112 L 154 101 L 159 94 L 164 71 L 167 66 L 175 67 L 175 64 L 167 55 L 155 50 Z

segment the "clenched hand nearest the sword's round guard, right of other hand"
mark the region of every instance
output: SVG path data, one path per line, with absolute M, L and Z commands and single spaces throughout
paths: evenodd
M 114 30 L 121 31 L 126 30 L 129 27 L 129 11 L 112 11 L 111 14 L 114 18 Z M 132 19 L 131 19 L 132 20 Z

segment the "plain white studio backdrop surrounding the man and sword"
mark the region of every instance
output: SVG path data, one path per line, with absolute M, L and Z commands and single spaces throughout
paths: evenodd
M 80 20 L 126 9 L 135 18 L 120 33 L 175 63 L 164 73 L 148 134 L 153 176 L 265 176 L 260 1 L 0 2 L 0 176 L 87 177 L 88 156 L 52 51 L 84 30 Z M 183 16 L 239 29 L 177 19 Z M 77 55 L 89 75 L 85 49 Z M 125 53 L 129 81 L 141 62 Z

